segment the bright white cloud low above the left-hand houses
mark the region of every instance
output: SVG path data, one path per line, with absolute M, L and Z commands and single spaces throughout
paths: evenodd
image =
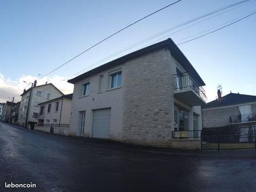
M 11 97 L 15 96 L 14 102 L 20 101 L 20 94 L 23 92 L 23 89 L 27 87 L 27 89 L 31 85 L 27 85 L 23 81 L 29 83 L 34 83 L 34 80 L 37 79 L 31 75 L 22 75 L 18 81 L 14 81 L 11 78 L 5 77 L 3 74 L 0 73 L 0 102 L 10 101 Z M 54 84 L 59 90 L 61 90 L 64 94 L 72 93 L 73 92 L 73 84 L 67 83 L 69 77 L 59 77 L 59 76 L 52 76 L 52 77 L 44 77 L 37 82 L 37 85 L 45 84 L 47 81 L 48 83 Z M 10 97 L 10 98 L 8 98 Z

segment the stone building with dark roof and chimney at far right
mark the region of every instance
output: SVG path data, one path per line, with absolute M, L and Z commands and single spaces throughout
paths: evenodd
M 256 125 L 256 96 L 229 93 L 202 107 L 203 127 Z

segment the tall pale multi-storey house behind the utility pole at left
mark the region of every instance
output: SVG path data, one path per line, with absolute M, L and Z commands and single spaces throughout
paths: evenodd
M 36 83 L 37 82 L 35 81 L 32 87 L 28 90 L 24 90 L 21 94 L 18 124 L 29 127 L 30 129 L 34 129 L 34 125 L 37 124 L 39 113 L 38 104 L 64 95 L 52 83 L 38 86 Z

